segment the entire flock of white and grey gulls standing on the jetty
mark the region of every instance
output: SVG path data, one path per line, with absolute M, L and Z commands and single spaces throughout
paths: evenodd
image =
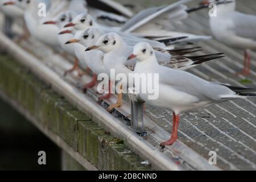
M 177 139 L 180 114 L 218 102 L 256 96 L 254 89 L 210 82 L 186 72 L 224 55 L 187 56 L 202 51 L 201 47 L 193 47 L 194 43 L 212 37 L 175 31 L 175 24 L 181 23 L 189 13 L 215 3 L 217 16 L 211 16 L 209 22 L 214 38 L 245 51 L 244 69 L 238 74 L 249 75 L 250 50 L 256 49 L 256 16 L 237 12 L 235 0 L 201 1 L 198 7 L 188 8 L 185 3 L 190 1 L 151 7 L 136 15 L 112 0 L 0 0 L 0 10 L 10 18 L 24 19 L 24 33 L 20 39 L 32 36 L 75 57 L 73 68 L 65 74 L 73 71 L 78 71 L 80 76 L 92 73 L 93 79 L 84 85 L 84 90 L 97 84 L 97 75 L 105 73 L 110 77 L 111 69 L 127 77 L 130 73 L 158 74 L 159 97 L 150 100 L 147 92 L 139 93 L 139 97 L 149 105 L 173 112 L 171 138 L 160 144 L 166 146 Z M 39 7 L 42 3 L 46 5 L 46 16 L 41 17 Z M 106 26 L 105 21 L 119 26 Z M 109 80 L 109 89 L 116 81 Z M 108 111 L 122 106 L 124 85 L 127 80 L 122 80 L 118 102 Z M 99 100 L 110 98 L 111 93 L 103 94 Z

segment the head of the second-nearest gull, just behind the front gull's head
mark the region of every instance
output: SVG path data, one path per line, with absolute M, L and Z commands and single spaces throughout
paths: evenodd
M 105 53 L 112 52 L 117 48 L 123 46 L 125 42 L 118 34 L 111 32 L 109 34 L 102 35 L 92 47 L 88 47 L 86 51 L 90 51 L 91 49 L 99 49 Z

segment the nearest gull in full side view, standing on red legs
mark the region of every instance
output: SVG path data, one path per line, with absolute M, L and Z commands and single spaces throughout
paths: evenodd
M 255 89 L 209 82 L 191 73 L 159 65 L 154 49 L 145 42 L 138 43 L 134 47 L 133 54 L 128 59 L 134 58 L 138 60 L 135 73 L 159 75 L 159 89 L 155 90 L 159 93 L 159 97 L 150 100 L 148 92 L 141 93 L 139 88 L 135 87 L 139 97 L 147 104 L 173 111 L 171 138 L 162 142 L 160 144 L 162 147 L 176 141 L 180 114 L 201 110 L 219 102 L 256 96 Z

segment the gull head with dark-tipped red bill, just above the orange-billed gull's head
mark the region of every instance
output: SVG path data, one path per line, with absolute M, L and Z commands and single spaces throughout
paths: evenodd
M 71 23 L 66 24 L 64 27 L 75 27 L 76 30 L 86 30 L 94 26 L 92 16 L 86 13 L 77 15 Z

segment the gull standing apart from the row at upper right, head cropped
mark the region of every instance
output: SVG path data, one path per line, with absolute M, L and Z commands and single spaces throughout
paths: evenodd
M 256 50 L 256 16 L 236 11 L 235 0 L 203 1 L 221 3 L 217 6 L 217 16 L 210 17 L 210 29 L 214 37 L 230 47 L 244 50 L 244 67 L 240 73 L 250 74 L 250 50 Z

